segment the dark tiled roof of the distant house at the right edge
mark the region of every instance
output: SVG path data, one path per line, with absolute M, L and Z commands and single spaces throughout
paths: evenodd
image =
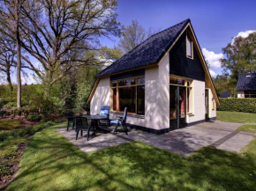
M 236 89 L 256 90 L 256 73 L 239 74 Z

